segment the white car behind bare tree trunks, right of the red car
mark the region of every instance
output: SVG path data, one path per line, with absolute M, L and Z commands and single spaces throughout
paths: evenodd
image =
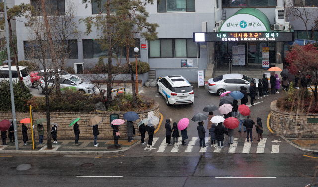
M 49 86 L 52 85 L 52 80 L 48 80 Z M 44 81 L 41 80 L 41 85 L 44 87 Z M 73 91 L 79 91 L 82 93 L 95 93 L 96 89 L 95 86 L 89 82 L 84 82 L 82 79 L 78 79 L 73 75 L 60 75 L 60 86 L 61 91 L 66 89 L 71 89 Z M 39 92 L 43 93 L 42 88 L 38 87 Z

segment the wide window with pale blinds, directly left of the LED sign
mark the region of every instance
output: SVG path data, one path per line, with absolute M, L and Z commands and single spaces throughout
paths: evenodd
M 149 42 L 150 58 L 196 58 L 199 47 L 193 39 L 159 39 Z

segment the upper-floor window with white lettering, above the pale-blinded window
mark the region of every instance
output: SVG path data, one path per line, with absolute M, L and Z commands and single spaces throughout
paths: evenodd
M 195 0 L 160 0 L 158 12 L 195 12 Z

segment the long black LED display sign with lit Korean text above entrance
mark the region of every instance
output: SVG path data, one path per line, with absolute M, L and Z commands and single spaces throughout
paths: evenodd
M 194 42 L 283 42 L 294 41 L 294 32 L 193 33 Z

